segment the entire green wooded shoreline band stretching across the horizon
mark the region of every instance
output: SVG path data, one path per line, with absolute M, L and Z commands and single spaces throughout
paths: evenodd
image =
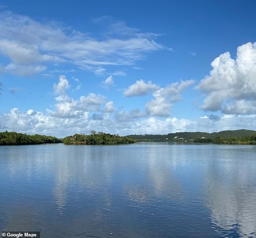
M 130 144 L 138 141 L 162 142 L 196 142 L 221 144 L 256 144 L 255 130 L 224 130 L 214 133 L 206 132 L 176 132 L 167 135 L 129 135 L 121 137 L 92 130 L 90 135 L 75 134 L 58 139 L 44 135 L 27 135 L 17 132 L 0 132 L 0 145 L 30 145 L 43 143 L 65 143 L 67 145 L 96 144 Z

